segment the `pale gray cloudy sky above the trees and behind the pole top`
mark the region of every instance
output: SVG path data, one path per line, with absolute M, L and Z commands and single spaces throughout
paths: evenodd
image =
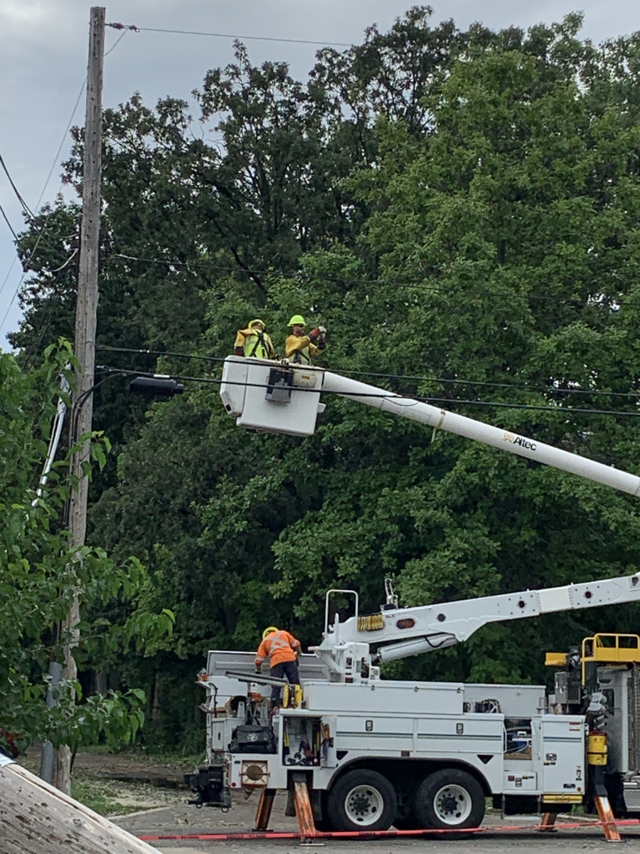
M 364 28 L 377 23 L 387 30 L 411 0 L 115 0 L 107 3 L 107 20 L 160 29 L 224 32 L 240 36 L 317 39 L 358 44 Z M 585 12 L 582 35 L 600 43 L 640 30 L 638 0 L 432 0 L 434 22 L 453 18 L 466 27 L 481 20 L 493 29 L 531 26 L 561 20 L 575 9 Z M 86 74 L 90 3 L 84 0 L 0 0 L 0 154 L 20 194 L 34 208 L 42 196 L 51 202 L 60 189 L 59 162 L 68 154 L 68 137 L 61 156 L 55 154 L 71 119 Z M 108 29 L 106 50 L 119 32 Z M 247 41 L 252 61 L 284 60 L 296 76 L 305 77 L 316 48 L 311 44 Z M 199 88 L 209 68 L 232 60 L 230 38 L 127 32 L 106 57 L 103 102 L 116 106 L 140 91 L 153 105 L 160 97 L 188 98 Z M 84 97 L 73 124 L 84 120 Z M 49 180 L 49 170 L 55 167 Z M 4 174 L 0 174 L 0 203 L 15 231 L 21 231 L 20 204 Z M 13 237 L 0 219 L 0 324 L 20 283 Z M 0 348 L 8 348 L 6 333 L 17 328 L 17 298 L 0 328 Z

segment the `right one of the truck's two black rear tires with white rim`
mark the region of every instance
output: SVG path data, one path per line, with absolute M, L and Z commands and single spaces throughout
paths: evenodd
M 421 828 L 477 828 L 485 817 L 485 793 L 470 774 L 444 768 L 422 781 L 414 809 Z

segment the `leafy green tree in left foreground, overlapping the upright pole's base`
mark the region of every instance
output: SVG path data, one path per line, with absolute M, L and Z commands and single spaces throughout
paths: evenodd
M 78 747 L 102 736 L 117 744 L 134 738 L 143 724 L 144 694 L 137 687 L 80 703 L 78 682 L 50 686 L 49 662 L 62 660 L 70 640 L 60 625 L 74 591 L 83 611 L 96 602 L 129 603 L 120 623 L 105 618 L 80 623 L 74 654 L 81 667 L 121 655 L 130 646 L 143 651 L 172 630 L 171 611 L 151 612 L 144 606 L 146 573 L 137 559 L 115 564 L 101 548 L 69 547 L 63 524 L 73 488 L 67 459 L 54 463 L 38 490 L 56 401 L 66 398 L 60 377 L 73 383 L 73 365 L 67 342 L 49 346 L 43 365 L 30 373 L 11 354 L 0 354 L 0 726 L 5 746 L 7 740 L 28 745 L 38 738 Z M 106 450 L 106 438 L 93 436 L 91 453 L 98 467 Z M 48 687 L 53 708 L 45 702 Z

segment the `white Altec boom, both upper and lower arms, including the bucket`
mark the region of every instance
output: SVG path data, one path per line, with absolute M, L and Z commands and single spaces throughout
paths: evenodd
M 319 368 L 230 356 L 225 360 L 220 396 L 240 426 L 309 436 L 315 430 L 317 412 L 323 409 L 319 402 L 321 391 L 534 459 L 631 495 L 640 494 L 640 477 L 626 471 Z M 325 632 L 316 653 L 331 670 L 346 676 L 355 672 L 358 661 L 369 665 L 443 649 L 467 640 L 486 623 L 638 600 L 640 573 L 416 608 L 401 609 L 387 600 L 387 605 L 372 616 L 351 617 L 345 623 L 336 620 L 333 630 Z M 373 657 L 369 653 L 371 645 L 377 649 Z

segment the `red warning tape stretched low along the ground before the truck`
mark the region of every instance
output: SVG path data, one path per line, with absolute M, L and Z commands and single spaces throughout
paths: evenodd
M 605 824 L 614 824 L 616 827 L 638 827 L 640 819 L 627 818 L 618 822 L 561 822 L 554 824 L 553 829 L 575 830 L 576 828 L 602 828 Z M 551 828 L 549 828 L 551 829 Z M 138 836 L 143 842 L 157 842 L 161 839 L 197 839 L 204 841 L 230 842 L 240 839 L 375 839 L 377 837 L 393 838 L 398 836 L 425 836 L 427 834 L 495 834 L 504 831 L 540 831 L 549 833 L 549 830 L 541 828 L 539 824 L 507 824 L 499 828 L 490 828 L 486 824 L 480 828 L 428 828 L 426 830 L 338 830 L 329 832 L 317 831 L 315 834 L 300 834 L 300 831 L 256 831 L 244 834 L 161 834 L 154 836 Z

